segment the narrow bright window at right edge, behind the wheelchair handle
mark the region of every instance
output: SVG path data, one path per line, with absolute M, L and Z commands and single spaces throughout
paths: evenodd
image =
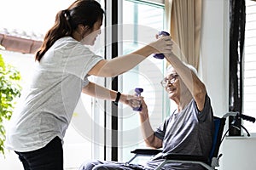
M 246 31 L 244 47 L 244 99 L 245 115 L 256 117 L 256 2 L 246 0 Z M 244 122 L 249 133 L 256 133 L 256 124 Z

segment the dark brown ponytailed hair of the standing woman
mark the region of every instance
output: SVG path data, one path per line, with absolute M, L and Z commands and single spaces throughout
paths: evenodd
M 55 17 L 55 25 L 45 34 L 44 42 L 38 49 L 35 59 L 40 61 L 46 51 L 61 37 L 72 36 L 73 31 L 82 24 L 92 28 L 98 20 L 103 20 L 104 11 L 95 0 L 76 0 Z

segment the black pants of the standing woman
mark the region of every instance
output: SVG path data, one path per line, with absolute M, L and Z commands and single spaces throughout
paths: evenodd
M 63 170 L 63 148 L 59 137 L 39 150 L 15 153 L 25 170 Z

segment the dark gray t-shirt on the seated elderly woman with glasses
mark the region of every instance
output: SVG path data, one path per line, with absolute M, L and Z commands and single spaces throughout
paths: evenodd
M 148 167 L 160 164 L 164 153 L 178 153 L 208 157 L 212 148 L 213 113 L 211 101 L 206 96 L 203 111 L 198 111 L 195 100 L 192 99 L 183 111 L 172 113 L 167 117 L 155 135 L 163 140 L 163 152 L 148 161 Z M 165 169 L 199 170 L 201 166 L 195 164 L 168 163 Z

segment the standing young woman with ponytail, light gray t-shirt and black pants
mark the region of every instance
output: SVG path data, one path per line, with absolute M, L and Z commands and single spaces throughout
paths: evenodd
M 62 140 L 81 92 L 129 105 L 127 96 L 89 82 L 90 75 L 115 77 L 148 55 L 171 53 L 171 37 L 137 51 L 102 59 L 84 45 L 94 45 L 104 11 L 94 0 L 77 0 L 56 14 L 35 59 L 38 62 L 27 94 L 11 117 L 6 146 L 15 150 L 25 169 L 62 170 Z

